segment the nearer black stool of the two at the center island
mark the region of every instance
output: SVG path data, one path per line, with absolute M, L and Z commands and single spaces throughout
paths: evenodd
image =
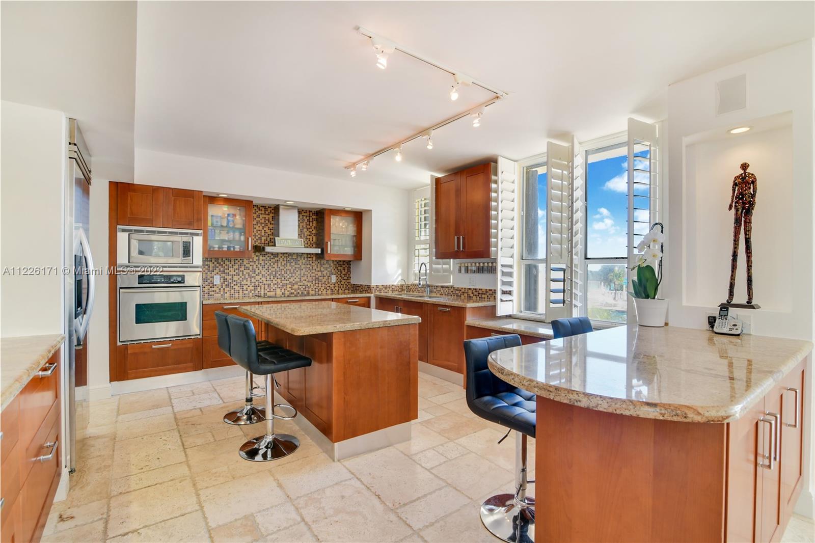
M 254 375 L 266 376 L 266 434 L 249 439 L 240 446 L 240 456 L 251 461 L 277 460 L 288 456 L 300 446 L 300 440 L 289 434 L 275 434 L 274 420 L 297 417 L 297 409 L 286 404 L 272 404 L 275 390 L 273 375 L 289 369 L 311 366 L 311 358 L 289 349 L 258 350 L 252 321 L 240 316 L 227 317 L 231 334 L 231 357 Z M 290 409 L 291 415 L 275 414 L 275 408 Z

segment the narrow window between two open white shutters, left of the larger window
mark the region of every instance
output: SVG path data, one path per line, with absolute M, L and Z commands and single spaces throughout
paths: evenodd
M 546 163 L 523 169 L 521 311 L 544 313 L 546 283 Z

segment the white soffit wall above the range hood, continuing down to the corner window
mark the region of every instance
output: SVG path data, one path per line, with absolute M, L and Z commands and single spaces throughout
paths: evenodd
M 363 217 L 363 260 L 351 263 L 351 282 L 393 285 L 403 277 L 406 190 L 139 148 L 134 177 L 164 187 L 370 210 Z

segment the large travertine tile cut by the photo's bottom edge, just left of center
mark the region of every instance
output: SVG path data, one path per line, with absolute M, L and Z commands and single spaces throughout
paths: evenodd
M 411 528 L 356 479 L 295 500 L 321 541 L 399 541 Z

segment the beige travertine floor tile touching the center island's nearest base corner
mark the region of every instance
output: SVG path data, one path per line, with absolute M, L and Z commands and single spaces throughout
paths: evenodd
M 393 447 L 351 458 L 345 464 L 357 479 L 392 508 L 444 486 L 442 479 Z

